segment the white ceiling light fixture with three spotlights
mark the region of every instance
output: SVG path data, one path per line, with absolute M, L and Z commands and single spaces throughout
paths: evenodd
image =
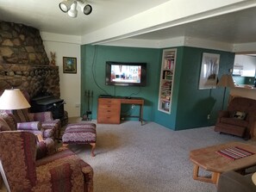
M 75 18 L 78 15 L 77 5 L 81 8 L 84 15 L 91 14 L 92 7 L 90 4 L 86 4 L 85 0 L 65 0 L 59 3 L 59 9 Z

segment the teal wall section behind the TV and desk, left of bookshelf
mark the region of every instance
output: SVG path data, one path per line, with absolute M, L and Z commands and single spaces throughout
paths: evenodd
M 91 90 L 93 91 L 92 119 L 97 119 L 97 97 L 102 94 L 109 94 L 111 96 L 143 97 L 145 99 L 143 119 L 145 121 L 154 121 L 154 111 L 157 108 L 158 99 L 160 59 L 161 50 L 153 48 L 81 46 L 81 115 L 87 109 L 84 90 Z M 105 85 L 106 61 L 146 62 L 147 86 L 122 87 Z M 122 106 L 122 114 L 138 115 L 139 107 L 131 109 L 130 106 L 124 105 Z

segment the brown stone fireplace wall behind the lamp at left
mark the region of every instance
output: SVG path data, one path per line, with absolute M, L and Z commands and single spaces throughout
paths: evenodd
M 0 21 L 0 91 L 12 87 L 59 97 L 59 67 L 50 65 L 38 29 Z

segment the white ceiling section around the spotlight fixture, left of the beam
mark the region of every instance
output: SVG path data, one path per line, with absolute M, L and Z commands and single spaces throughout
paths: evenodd
M 83 35 L 151 9 L 168 0 L 87 0 L 91 15 L 72 18 L 59 9 L 62 0 L 0 0 L 0 19 L 21 22 L 41 31 Z

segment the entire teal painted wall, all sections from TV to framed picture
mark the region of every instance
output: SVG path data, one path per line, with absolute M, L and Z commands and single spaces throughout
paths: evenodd
M 172 112 L 167 115 L 158 111 L 159 76 L 163 49 L 122 46 L 81 46 L 81 115 L 86 111 L 84 90 L 93 90 L 92 119 L 97 119 L 97 97 L 138 96 L 145 99 L 145 121 L 155 121 L 173 130 L 205 127 L 215 124 L 217 113 L 222 109 L 223 88 L 198 90 L 199 74 L 203 53 L 221 55 L 218 78 L 233 68 L 234 53 L 195 48 L 176 47 L 177 60 L 172 96 Z M 147 62 L 146 87 L 121 87 L 105 85 L 106 61 Z M 228 91 L 224 106 L 228 103 Z M 123 106 L 122 113 L 138 115 L 139 108 Z M 210 119 L 207 119 L 210 115 Z

